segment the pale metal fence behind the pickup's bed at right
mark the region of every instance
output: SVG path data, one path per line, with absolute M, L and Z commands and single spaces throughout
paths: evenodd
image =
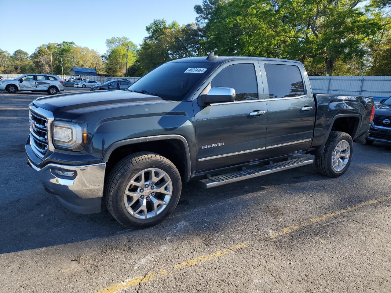
M 391 76 L 309 76 L 314 93 L 391 96 Z

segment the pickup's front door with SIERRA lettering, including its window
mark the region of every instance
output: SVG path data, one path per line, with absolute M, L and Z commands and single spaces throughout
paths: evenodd
M 265 149 L 267 107 L 258 62 L 222 64 L 206 80 L 202 91 L 213 87 L 235 89 L 234 102 L 199 106 L 193 100 L 197 144 L 197 172 L 223 168 L 262 157 Z M 255 115 L 260 112 L 262 114 Z

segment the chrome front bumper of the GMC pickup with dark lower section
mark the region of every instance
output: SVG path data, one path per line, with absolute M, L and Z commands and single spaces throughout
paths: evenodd
M 28 164 L 44 188 L 56 195 L 64 207 L 79 214 L 100 212 L 106 163 L 84 166 L 47 164 L 39 168 L 28 158 Z M 55 170 L 71 171 L 74 176 L 67 178 Z

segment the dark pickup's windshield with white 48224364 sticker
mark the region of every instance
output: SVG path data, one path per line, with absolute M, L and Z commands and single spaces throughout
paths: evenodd
M 164 100 L 181 101 L 212 64 L 193 62 L 165 63 L 127 88 L 146 91 Z

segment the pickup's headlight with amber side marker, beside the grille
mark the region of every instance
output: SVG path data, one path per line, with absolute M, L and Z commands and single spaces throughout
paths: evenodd
M 62 150 L 80 151 L 87 143 L 87 124 L 83 122 L 53 122 L 53 143 Z

